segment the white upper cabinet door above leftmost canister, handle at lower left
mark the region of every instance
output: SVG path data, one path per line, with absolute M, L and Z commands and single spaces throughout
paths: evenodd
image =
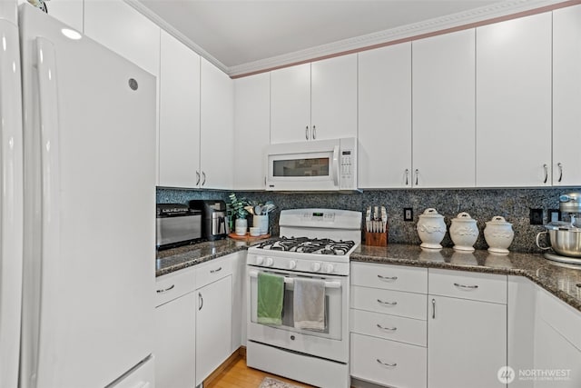
M 413 184 L 475 185 L 475 32 L 412 43 Z

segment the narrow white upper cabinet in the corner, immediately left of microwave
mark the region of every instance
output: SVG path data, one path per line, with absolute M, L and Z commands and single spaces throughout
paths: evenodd
M 271 142 L 271 75 L 234 80 L 234 189 L 264 189 L 264 152 Z

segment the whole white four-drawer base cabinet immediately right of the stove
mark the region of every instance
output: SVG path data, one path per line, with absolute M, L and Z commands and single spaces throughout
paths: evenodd
M 427 276 L 425 268 L 351 264 L 352 377 L 390 387 L 426 387 Z

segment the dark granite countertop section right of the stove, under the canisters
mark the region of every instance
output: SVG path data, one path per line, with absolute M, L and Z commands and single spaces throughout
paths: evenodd
M 433 250 L 418 245 L 390 244 L 388 247 L 359 245 L 350 259 L 352 262 L 521 275 L 581 311 L 581 267 L 551 262 L 541 254 L 490 254 L 484 250 L 461 253 L 451 248 Z

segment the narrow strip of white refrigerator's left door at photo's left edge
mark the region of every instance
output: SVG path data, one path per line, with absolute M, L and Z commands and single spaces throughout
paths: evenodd
M 0 5 L 0 387 L 18 383 L 23 173 L 20 48 L 8 2 Z M 15 8 L 15 6 L 14 6 Z M 5 14 L 7 12 L 7 15 Z M 11 21 L 12 19 L 12 21 Z

